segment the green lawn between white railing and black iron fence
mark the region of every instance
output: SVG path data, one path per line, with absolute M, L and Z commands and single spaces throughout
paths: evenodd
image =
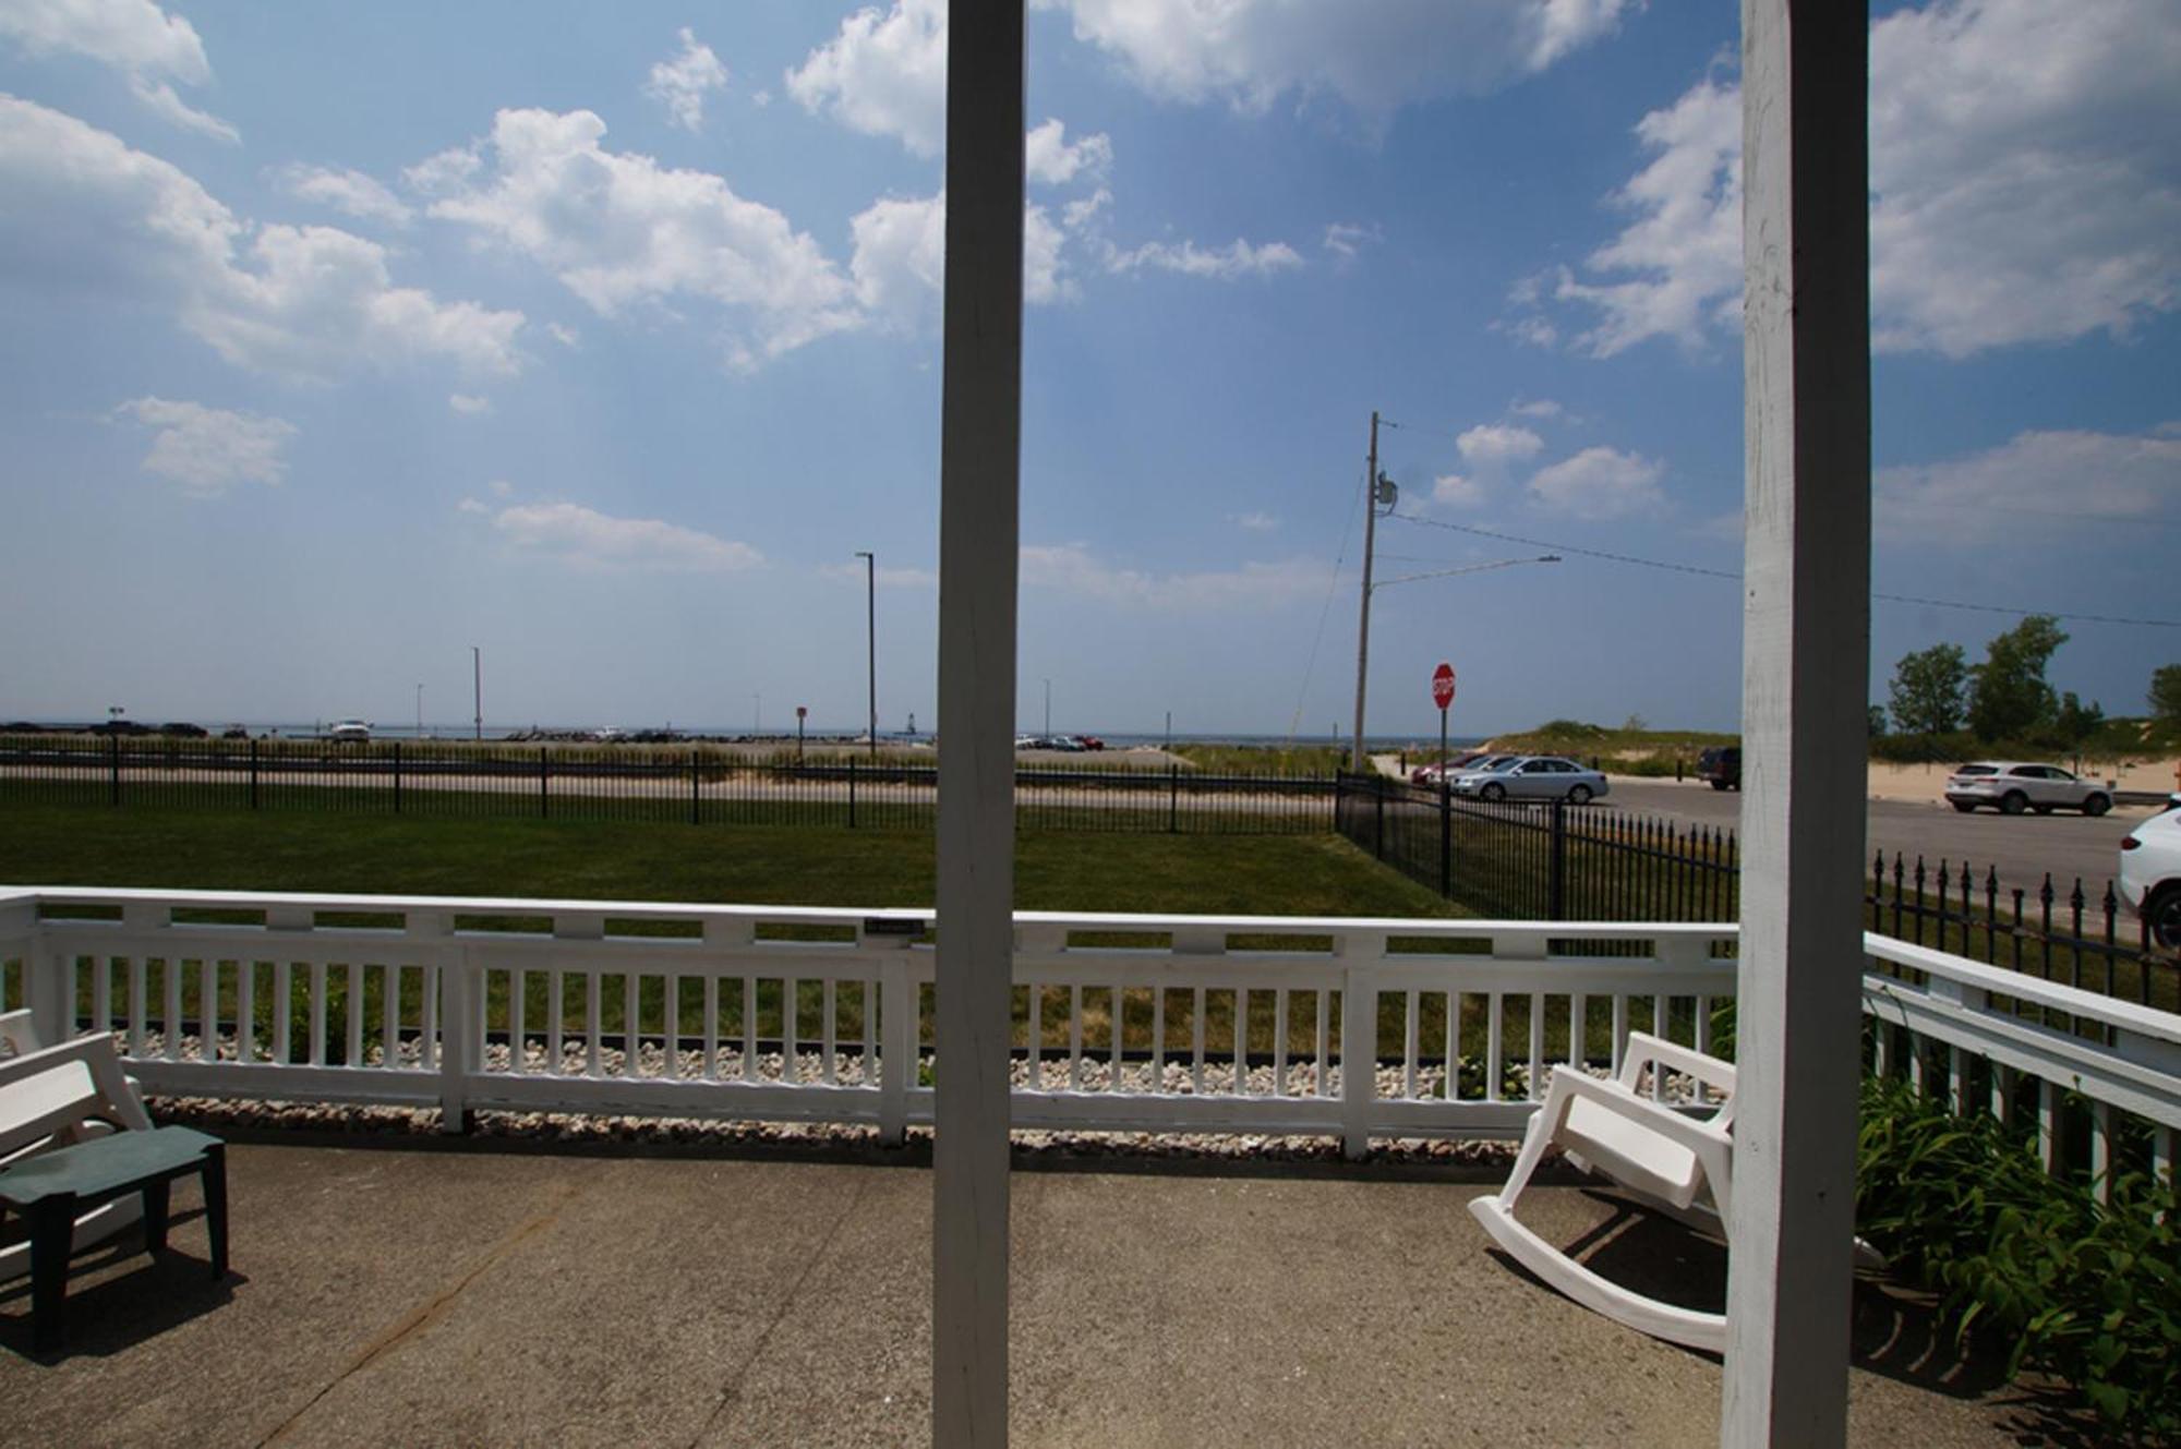
M 7 807 L 0 882 L 929 906 L 933 845 L 838 827 Z M 1025 831 L 1014 895 L 1025 910 L 1463 914 L 1330 834 Z

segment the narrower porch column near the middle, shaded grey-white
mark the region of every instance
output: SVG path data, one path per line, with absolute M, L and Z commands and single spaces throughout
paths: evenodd
M 1014 578 L 1023 423 L 1023 0 L 953 0 L 940 417 L 931 1442 L 1008 1442 Z

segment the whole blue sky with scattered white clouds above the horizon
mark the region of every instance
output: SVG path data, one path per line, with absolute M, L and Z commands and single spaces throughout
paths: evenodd
M 1873 7 L 1884 594 L 2181 618 L 2181 4 Z M 0 0 L 0 716 L 936 685 L 944 9 Z M 1732 727 L 1736 7 L 1045 0 L 1021 720 Z M 1487 530 L 1487 532 L 1472 532 Z M 1873 698 L 2013 615 L 1880 600 Z M 2070 620 L 2142 711 L 2181 631 Z

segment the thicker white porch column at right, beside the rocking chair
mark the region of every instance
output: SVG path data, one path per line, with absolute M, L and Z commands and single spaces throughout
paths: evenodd
M 1723 1445 L 1847 1434 L 1871 574 L 1863 4 L 1743 0 L 1743 936 Z

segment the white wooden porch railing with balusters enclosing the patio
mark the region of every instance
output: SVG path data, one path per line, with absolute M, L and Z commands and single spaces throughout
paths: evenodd
M 870 1124 L 899 1141 L 931 1122 L 942 1069 L 929 921 L 0 890 L 0 1008 L 28 1004 L 55 1039 L 113 1030 L 161 1095 L 436 1106 L 449 1130 L 486 1109 Z M 1337 1135 L 1350 1152 L 1509 1137 L 1570 1041 L 1592 1067 L 1618 1063 L 1631 1026 L 1708 1047 L 1732 943 L 1732 925 L 1019 912 L 1014 1122 Z M 2094 1174 L 2126 1115 L 2172 1170 L 2181 1017 L 1878 934 L 1865 949 L 1880 1067 L 1904 1054 L 1963 1109 L 1980 1082 L 2002 1113 L 2035 1078 L 2048 1165 L 2076 1093 Z

